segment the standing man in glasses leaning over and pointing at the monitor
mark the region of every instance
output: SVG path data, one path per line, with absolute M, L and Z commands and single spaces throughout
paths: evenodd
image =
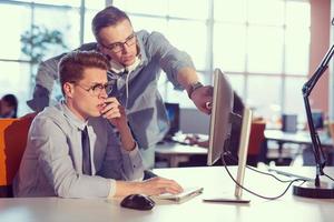
M 157 82 L 161 69 L 177 89 L 186 89 L 198 110 L 209 113 L 209 87 L 198 80 L 190 57 L 173 47 L 158 32 L 135 32 L 128 16 L 108 7 L 92 20 L 96 43 L 84 44 L 79 50 L 97 50 L 107 56 L 111 64 L 109 81 L 115 82 L 111 94 L 126 108 L 129 125 L 138 142 L 145 168 L 154 167 L 155 145 L 168 131 L 168 119 Z M 58 56 L 39 67 L 33 99 L 28 104 L 41 110 L 49 104 L 49 94 L 57 75 Z

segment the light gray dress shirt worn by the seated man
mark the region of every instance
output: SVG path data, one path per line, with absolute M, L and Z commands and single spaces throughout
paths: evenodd
M 82 174 L 81 130 L 87 125 L 92 175 Z M 79 120 L 65 103 L 46 108 L 29 130 L 28 143 L 13 182 L 16 196 L 106 198 L 115 180 L 141 180 L 136 148 L 127 152 L 108 120 Z

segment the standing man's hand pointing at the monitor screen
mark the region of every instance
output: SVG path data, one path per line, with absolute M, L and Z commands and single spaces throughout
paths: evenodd
M 197 107 L 197 109 L 204 113 L 212 113 L 214 88 L 212 85 L 206 85 L 196 89 L 191 93 L 191 100 Z

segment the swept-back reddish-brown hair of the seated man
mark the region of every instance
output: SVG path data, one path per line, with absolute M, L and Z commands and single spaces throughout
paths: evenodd
M 109 70 L 110 64 L 108 59 L 97 51 L 72 51 L 61 58 L 58 64 L 58 72 L 62 94 L 65 94 L 63 84 L 81 80 L 86 68 Z

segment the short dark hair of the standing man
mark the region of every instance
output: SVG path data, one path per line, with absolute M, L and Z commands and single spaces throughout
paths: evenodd
M 97 41 L 99 41 L 98 36 L 102 28 L 115 26 L 124 20 L 130 22 L 129 17 L 116 7 L 107 7 L 102 11 L 99 11 L 91 21 L 91 30 Z

